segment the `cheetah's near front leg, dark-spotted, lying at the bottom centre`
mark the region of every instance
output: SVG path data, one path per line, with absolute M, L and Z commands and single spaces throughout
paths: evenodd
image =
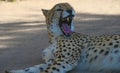
M 72 70 L 75 66 L 68 63 L 64 60 L 57 60 L 51 66 L 48 66 L 44 71 L 41 73 L 66 73 Z

